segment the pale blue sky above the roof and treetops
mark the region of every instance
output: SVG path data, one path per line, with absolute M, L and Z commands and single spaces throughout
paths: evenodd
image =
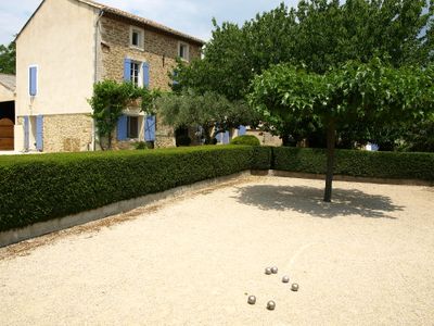
M 63 0 L 59 0 L 63 1 Z M 135 13 L 203 40 L 210 38 L 212 18 L 242 24 L 256 13 L 269 11 L 285 2 L 294 7 L 298 0 L 97 0 Z M 14 39 L 41 0 L 0 0 L 0 45 Z

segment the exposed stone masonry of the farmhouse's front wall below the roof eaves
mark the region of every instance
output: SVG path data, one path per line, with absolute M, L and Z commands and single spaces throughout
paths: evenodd
M 130 47 L 130 28 L 143 30 L 143 50 Z M 150 88 L 170 90 L 169 73 L 176 66 L 178 57 L 179 39 L 163 33 L 146 29 L 146 27 L 130 24 L 114 17 L 103 16 L 101 18 L 101 68 L 100 79 L 124 80 L 124 61 L 130 59 L 137 62 L 146 62 L 150 65 Z M 184 43 L 189 43 L 182 40 Z M 189 43 L 190 60 L 201 57 L 201 47 Z M 164 126 L 157 117 L 156 148 L 174 147 L 174 129 Z M 141 138 L 143 139 L 143 138 Z M 133 142 L 118 143 L 114 140 L 116 148 L 131 148 Z

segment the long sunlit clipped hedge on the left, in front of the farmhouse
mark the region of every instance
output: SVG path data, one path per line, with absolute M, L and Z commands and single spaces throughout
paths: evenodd
M 225 146 L 0 158 L 0 231 L 246 171 L 255 152 Z

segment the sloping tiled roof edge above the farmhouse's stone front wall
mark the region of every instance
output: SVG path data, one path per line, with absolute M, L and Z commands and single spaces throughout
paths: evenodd
M 118 15 L 118 16 L 131 20 L 131 21 L 136 21 L 138 23 L 151 26 L 151 27 L 153 27 L 155 29 L 159 29 L 162 32 L 165 32 L 165 33 L 178 36 L 178 37 L 181 37 L 183 39 L 188 39 L 190 41 L 193 41 L 194 43 L 197 43 L 197 45 L 201 45 L 201 46 L 203 46 L 205 43 L 205 41 L 203 41 L 203 40 L 201 40 L 199 38 L 195 38 L 193 36 L 187 35 L 184 33 L 178 32 L 178 30 L 173 29 L 170 27 L 164 26 L 164 25 L 158 24 L 156 22 L 153 22 L 151 20 L 143 18 L 141 16 L 125 12 L 123 10 L 119 10 L 119 9 L 116 9 L 116 8 L 113 8 L 113 7 L 108 7 L 108 5 L 92 1 L 92 0 L 78 0 L 78 1 L 82 2 L 82 3 L 87 3 L 87 4 L 92 5 L 94 8 L 98 8 L 100 10 L 104 11 L 105 13 L 111 13 L 111 14 L 114 14 L 114 15 Z

